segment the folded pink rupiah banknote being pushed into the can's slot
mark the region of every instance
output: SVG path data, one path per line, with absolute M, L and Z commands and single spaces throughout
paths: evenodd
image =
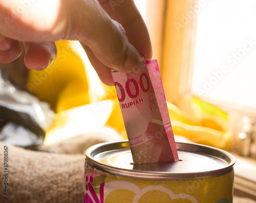
M 134 164 L 179 161 L 157 60 L 112 76 Z

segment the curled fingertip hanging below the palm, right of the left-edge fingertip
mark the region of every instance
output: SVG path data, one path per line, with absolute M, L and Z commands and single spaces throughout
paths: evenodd
M 26 42 L 24 46 L 26 49 L 24 62 L 28 69 L 44 70 L 57 56 L 54 42 Z

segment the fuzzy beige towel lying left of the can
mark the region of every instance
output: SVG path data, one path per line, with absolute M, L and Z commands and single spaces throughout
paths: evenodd
M 109 129 L 81 134 L 37 152 L 0 142 L 0 202 L 82 202 L 84 150 L 91 145 L 118 141 Z M 8 200 L 4 199 L 4 146 L 8 146 Z M 69 153 L 69 154 L 61 154 Z

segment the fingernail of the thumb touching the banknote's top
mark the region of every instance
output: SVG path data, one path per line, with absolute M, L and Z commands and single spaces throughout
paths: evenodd
M 135 72 L 140 69 L 142 57 L 140 53 L 130 44 L 130 54 L 124 63 L 127 72 Z

